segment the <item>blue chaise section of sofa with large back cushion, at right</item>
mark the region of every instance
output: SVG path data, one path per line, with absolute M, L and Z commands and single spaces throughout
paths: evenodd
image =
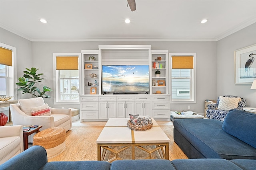
M 175 119 L 174 141 L 188 158 L 255 160 L 256 114 L 234 109 L 223 122 Z

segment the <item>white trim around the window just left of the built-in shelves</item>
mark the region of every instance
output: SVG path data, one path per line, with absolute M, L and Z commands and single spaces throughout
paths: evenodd
M 79 100 L 78 101 L 59 101 L 59 95 L 57 92 L 59 92 L 59 82 L 58 82 L 58 70 L 56 70 L 56 57 L 57 56 L 78 56 L 78 61 L 81 59 L 81 53 L 53 53 L 53 80 L 54 80 L 54 85 L 53 85 L 53 96 L 54 96 L 54 105 L 62 105 L 62 104 L 80 104 Z M 81 76 L 81 64 L 78 63 L 78 70 L 79 70 L 79 80 Z M 79 82 L 80 86 L 81 82 Z

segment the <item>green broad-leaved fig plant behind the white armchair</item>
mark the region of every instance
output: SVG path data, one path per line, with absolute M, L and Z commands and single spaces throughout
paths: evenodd
M 21 86 L 18 90 L 23 91 L 22 94 L 31 94 L 32 98 L 50 98 L 50 96 L 48 96 L 46 92 L 51 92 L 51 88 L 44 86 L 43 90 L 41 91 L 39 88 L 35 86 L 36 83 L 42 82 L 42 80 L 44 80 L 44 78 L 40 78 L 40 76 L 44 74 L 36 74 L 37 70 L 39 70 L 39 68 L 37 69 L 32 67 L 31 69 L 26 68 L 26 70 L 23 71 L 25 74 L 23 75 L 23 77 L 18 78 L 19 82 L 16 83 L 18 86 Z

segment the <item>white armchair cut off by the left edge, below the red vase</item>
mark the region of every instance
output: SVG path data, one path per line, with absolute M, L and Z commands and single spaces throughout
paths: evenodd
M 0 127 L 0 164 L 23 152 L 23 128 L 18 126 Z

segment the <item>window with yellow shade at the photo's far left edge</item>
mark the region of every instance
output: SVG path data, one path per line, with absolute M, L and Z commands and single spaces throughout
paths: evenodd
M 1 57 L 0 57 L 0 96 L 14 96 L 12 100 L 17 99 L 17 93 L 14 93 L 16 91 L 16 84 L 14 83 L 14 80 L 17 80 L 16 72 L 14 72 L 14 68 L 16 67 L 16 48 L 12 47 L 10 45 L 6 45 L 4 43 L 0 43 L 0 48 L 7 49 L 10 51 L 10 63 L 11 64 L 5 64 L 5 62 L 2 62 L 3 60 L 7 58 L 2 53 L 1 49 Z M 9 66 L 10 65 L 10 66 Z

